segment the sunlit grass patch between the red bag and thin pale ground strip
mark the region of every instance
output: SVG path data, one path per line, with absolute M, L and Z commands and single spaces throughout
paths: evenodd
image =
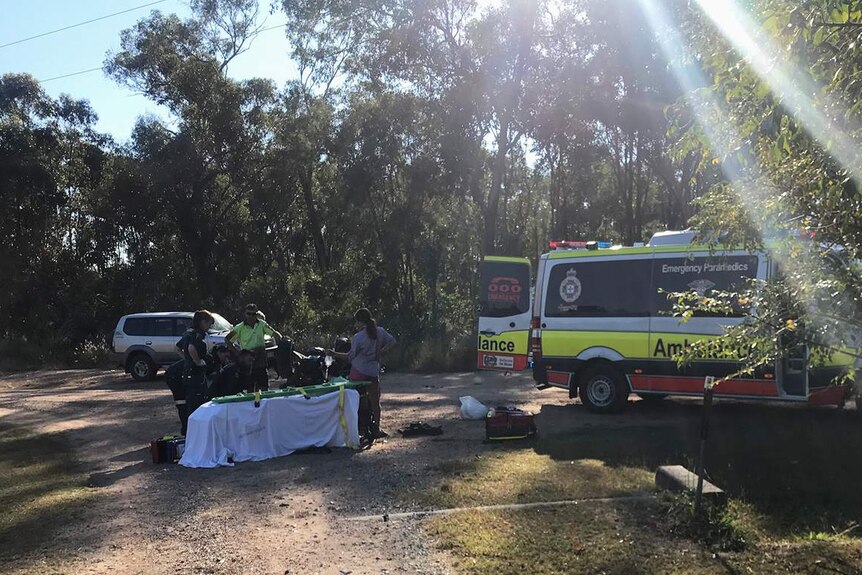
M 653 488 L 652 473 L 596 459 L 561 461 L 531 450 L 491 452 L 439 468 L 442 479 L 412 493 L 429 508 L 530 503 L 626 495 Z

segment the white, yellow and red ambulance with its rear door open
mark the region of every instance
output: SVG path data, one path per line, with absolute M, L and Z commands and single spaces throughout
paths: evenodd
M 551 242 L 538 259 L 534 290 L 529 259 L 487 256 L 480 269 L 478 367 L 521 371 L 531 365 L 540 389 L 568 390 L 598 413 L 622 410 L 631 394 L 702 395 L 705 376 L 738 371 L 738 359 L 680 367 L 674 356 L 738 325 L 743 310 L 698 313 L 681 322 L 669 314 L 667 293 L 742 290 L 750 278 L 769 279 L 778 264 L 768 252 L 694 245 L 694 235 L 660 232 L 635 247 Z M 751 377 L 723 381 L 715 395 L 843 404 L 845 389 L 833 381 L 852 358 L 836 354 L 814 367 L 810 353 L 799 346 Z

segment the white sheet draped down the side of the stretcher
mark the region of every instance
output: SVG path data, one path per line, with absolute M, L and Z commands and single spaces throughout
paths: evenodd
M 339 395 L 274 397 L 260 407 L 253 401 L 205 403 L 189 418 L 180 465 L 231 466 L 228 458 L 261 461 L 309 447 L 357 446 L 359 393 L 344 390 L 343 410 Z

